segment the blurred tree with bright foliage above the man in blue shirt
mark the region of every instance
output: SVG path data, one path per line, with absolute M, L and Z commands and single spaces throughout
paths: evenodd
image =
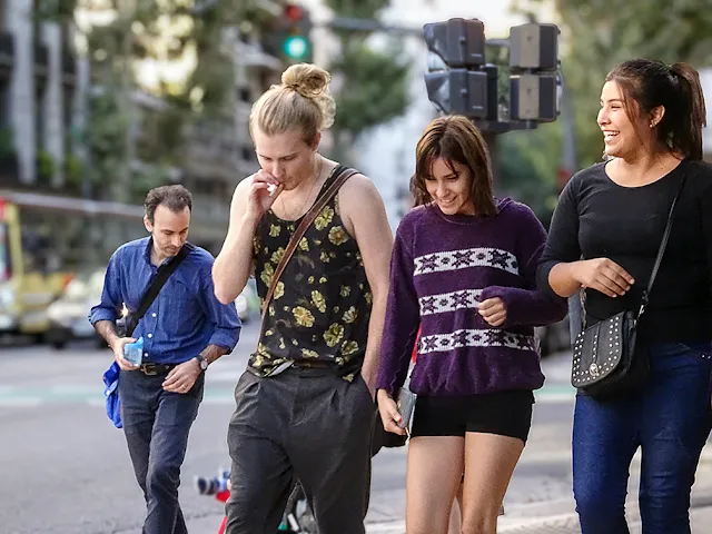
M 88 0 L 40 2 L 44 20 L 75 22 L 76 8 Z M 231 59 L 226 53 L 224 29 L 253 20 L 257 0 L 103 0 L 112 20 L 83 28 L 91 61 L 92 87 L 88 144 L 92 181 L 109 180 L 105 194 L 131 201 L 132 189 L 165 181 L 171 167 L 185 158 L 187 122 L 196 115 L 217 112 L 230 99 L 234 83 Z M 197 8 L 199 6 L 200 8 Z M 160 78 L 154 83 L 137 76 L 141 61 L 192 59 L 195 65 L 181 82 Z M 155 97 L 139 107 L 136 91 Z M 140 130 L 139 139 L 136 131 Z M 137 170 L 135 159 L 141 165 Z M 155 169 L 147 171 L 145 169 Z M 154 176 L 154 184 L 149 184 Z

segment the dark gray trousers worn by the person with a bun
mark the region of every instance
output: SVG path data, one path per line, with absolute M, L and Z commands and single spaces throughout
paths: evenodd
M 298 479 L 319 534 L 364 534 L 374 402 L 357 374 L 291 367 L 235 389 L 226 534 L 275 534 Z

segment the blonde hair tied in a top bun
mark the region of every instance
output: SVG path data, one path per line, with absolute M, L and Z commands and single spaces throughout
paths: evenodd
M 281 75 L 281 83 L 271 86 L 253 105 L 249 131 L 257 126 L 267 136 L 301 129 L 312 145 L 317 134 L 334 123 L 336 103 L 329 93 L 332 76 L 312 63 L 290 66 Z

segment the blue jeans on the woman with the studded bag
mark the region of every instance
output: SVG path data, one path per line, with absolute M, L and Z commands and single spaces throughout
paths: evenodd
M 644 534 L 690 532 L 690 490 L 710 434 L 712 344 L 654 344 L 651 376 L 637 394 L 577 395 L 573 476 L 582 534 L 625 534 L 631 461 L 641 447 Z

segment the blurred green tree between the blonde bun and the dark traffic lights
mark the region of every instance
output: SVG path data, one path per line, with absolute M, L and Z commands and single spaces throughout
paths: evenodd
M 377 19 L 388 0 L 326 0 L 335 14 L 357 19 Z M 335 30 L 340 53 L 329 70 L 338 78 L 336 95 L 335 151 L 348 159 L 353 146 L 365 130 L 402 116 L 408 106 L 411 66 L 404 50 L 389 42 L 383 50 L 369 42 L 370 32 Z

